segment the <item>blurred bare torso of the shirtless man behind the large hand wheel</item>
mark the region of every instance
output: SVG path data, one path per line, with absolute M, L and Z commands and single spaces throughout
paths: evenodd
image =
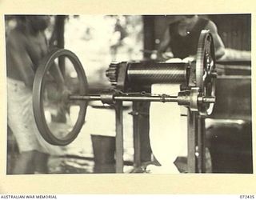
M 6 40 L 7 76 L 25 84 L 33 82 L 35 69 L 46 53 L 47 42 L 43 32 L 30 34 L 18 28 L 12 30 Z

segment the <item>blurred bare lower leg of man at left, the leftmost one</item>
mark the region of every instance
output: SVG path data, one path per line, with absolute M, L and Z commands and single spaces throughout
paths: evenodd
M 15 162 L 13 174 L 34 174 L 34 155 L 34 150 L 21 152 Z

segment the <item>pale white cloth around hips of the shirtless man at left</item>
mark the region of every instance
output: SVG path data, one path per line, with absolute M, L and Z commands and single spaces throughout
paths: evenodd
M 64 154 L 61 147 L 50 145 L 39 133 L 34 120 L 32 91 L 12 78 L 7 78 L 7 122 L 20 152 L 38 150 L 46 154 Z

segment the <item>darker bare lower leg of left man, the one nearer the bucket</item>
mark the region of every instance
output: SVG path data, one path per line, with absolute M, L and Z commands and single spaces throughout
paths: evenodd
M 37 151 L 34 158 L 34 174 L 47 174 L 48 173 L 48 159 L 49 154 Z

